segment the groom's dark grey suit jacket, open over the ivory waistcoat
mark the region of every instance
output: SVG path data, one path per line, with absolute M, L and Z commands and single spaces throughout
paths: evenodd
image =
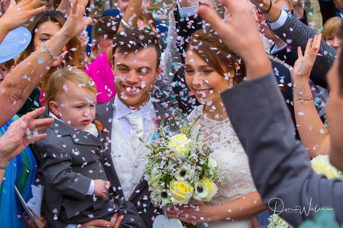
M 99 105 L 96 107 L 96 120 L 100 121 L 102 124 L 104 130 L 102 131 L 103 134 L 103 149 L 105 150 L 102 152 L 103 154 L 103 161 L 104 163 L 108 162 L 108 165 L 104 165 L 104 170 L 107 176 L 107 179 L 109 180 L 111 184 L 110 188 L 110 196 L 113 197 L 119 197 L 122 200 L 125 200 L 124 193 L 121 190 L 120 181 L 117 175 L 117 172 L 113 165 L 113 160 L 111 157 L 111 129 L 112 125 L 109 120 L 113 117 L 113 104 L 114 104 L 114 98 L 106 102 L 105 104 Z M 156 102 L 153 102 L 154 109 L 157 111 L 156 116 L 160 116 L 161 118 L 158 119 L 158 125 L 161 123 L 163 116 L 170 116 L 171 111 L 168 109 L 162 108 L 160 105 L 158 105 Z M 167 121 L 164 121 L 164 124 L 166 124 Z M 114 188 L 115 187 L 115 191 Z M 158 214 L 163 214 L 162 210 L 158 207 L 154 207 L 150 202 L 150 193 L 149 186 L 146 180 L 143 179 L 143 176 L 134 189 L 133 193 L 131 194 L 129 198 L 129 202 L 131 202 L 137 209 L 139 215 L 141 216 L 143 222 L 145 223 L 147 228 L 152 228 L 153 220 L 152 217 L 156 217 Z

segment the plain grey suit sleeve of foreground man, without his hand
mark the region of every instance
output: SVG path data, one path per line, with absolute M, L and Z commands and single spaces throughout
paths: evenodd
M 238 84 L 222 93 L 222 99 L 263 202 L 271 209 L 276 204 L 276 211 L 305 207 L 302 213 L 279 214 L 294 227 L 313 217 L 309 207 L 323 206 L 333 208 L 342 224 L 343 182 L 312 170 L 306 149 L 294 139 L 292 119 L 273 73 Z

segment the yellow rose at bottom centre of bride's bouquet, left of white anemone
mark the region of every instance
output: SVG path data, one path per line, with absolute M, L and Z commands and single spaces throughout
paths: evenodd
M 172 203 L 187 204 L 193 196 L 193 188 L 180 180 L 173 180 L 170 182 L 170 193 Z

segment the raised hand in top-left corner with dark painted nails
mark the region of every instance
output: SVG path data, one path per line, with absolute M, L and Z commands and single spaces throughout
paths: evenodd
M 21 0 L 18 4 L 15 0 L 10 1 L 10 5 L 5 14 L 0 18 L 1 26 L 6 28 L 8 32 L 23 25 L 36 14 L 48 9 L 50 4 L 46 4 L 35 9 L 41 0 Z M 15 18 L 15 19 L 14 19 Z

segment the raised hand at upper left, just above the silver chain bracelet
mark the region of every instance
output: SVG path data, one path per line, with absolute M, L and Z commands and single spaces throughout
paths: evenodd
M 83 28 L 92 23 L 91 17 L 83 17 L 88 0 L 74 0 L 66 23 L 61 28 L 66 38 L 71 39 L 80 35 Z

